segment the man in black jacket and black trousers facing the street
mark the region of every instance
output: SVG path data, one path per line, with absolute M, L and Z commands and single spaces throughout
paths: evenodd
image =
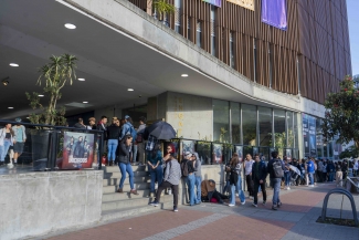
M 263 205 L 266 202 L 265 178 L 267 175 L 265 161 L 261 160 L 260 155 L 254 156 L 254 163 L 252 166 L 252 180 L 254 184 L 254 201 L 253 207 L 258 207 L 258 188 L 261 187 L 263 194 Z

